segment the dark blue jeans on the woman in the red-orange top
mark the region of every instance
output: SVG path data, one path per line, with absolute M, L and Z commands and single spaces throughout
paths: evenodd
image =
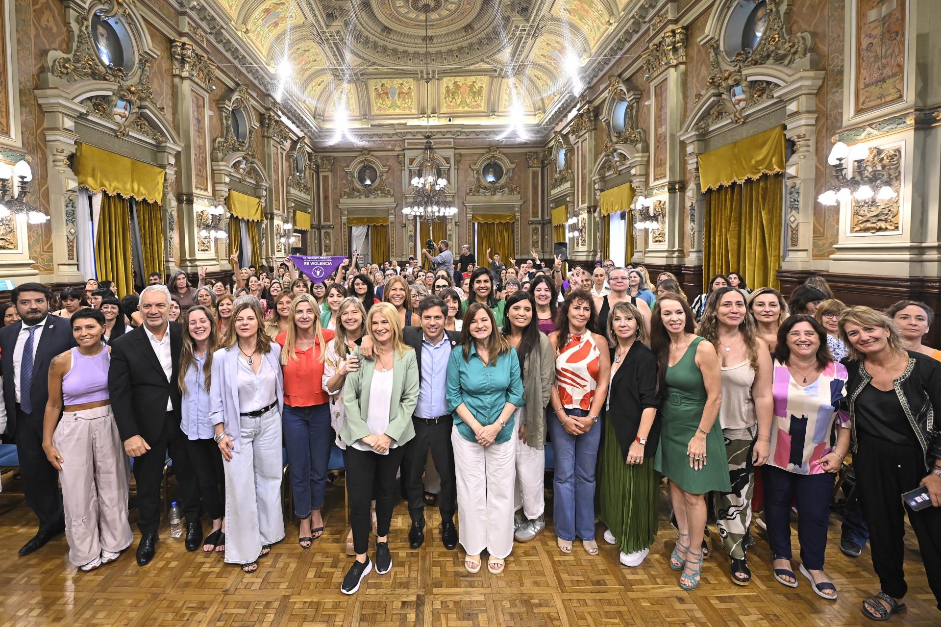
M 283 428 L 295 516 L 307 518 L 311 510 L 324 506 L 327 491 L 327 463 L 334 440 L 329 404 L 311 407 L 285 405 Z

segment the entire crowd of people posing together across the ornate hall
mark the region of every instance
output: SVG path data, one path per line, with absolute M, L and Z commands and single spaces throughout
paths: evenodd
M 547 528 L 551 442 L 551 524 L 563 553 L 579 541 L 598 555 L 599 519 L 621 563 L 640 566 L 658 531 L 666 477 L 678 534 L 669 565 L 680 587 L 700 584 L 710 506 L 733 583 L 751 582 L 758 522 L 774 579 L 799 587 L 796 510 L 797 571 L 833 600 L 827 530 L 837 475 L 852 460 L 851 500 L 881 585 L 862 611 L 883 620 L 905 609 L 906 513 L 941 600 L 933 412 L 941 351 L 922 344 L 934 315 L 926 304 L 847 306 L 819 277 L 786 301 L 733 272 L 712 277 L 691 305 L 675 276 L 650 281 L 643 266 L 608 260 L 564 274 L 558 259 L 461 260 L 456 271 L 414 261 L 358 271 L 346 261 L 312 285 L 287 260 L 274 272 L 236 265 L 229 283 L 200 272 L 191 286 L 178 271 L 166 286 L 153 276 L 139 296 L 119 299 L 107 281 L 88 281 L 44 306 L 37 302 L 48 299 L 46 288 L 18 287 L 3 317 L 15 333 L 0 332 L 0 345 L 16 341 L 2 357 L 5 377 L 16 379 L 17 412 L 28 385 L 19 361 L 27 335 L 33 351 L 29 325 L 52 309 L 71 319 L 72 344 L 49 369 L 41 442 L 61 476 L 72 563 L 88 571 L 130 545 L 128 456 L 140 508 L 137 561 L 150 561 L 160 504 L 159 488 L 156 505 L 144 503 L 154 490 L 147 460 L 162 462 L 167 449 L 188 550 L 258 569 L 285 536 L 282 449 L 298 541 L 308 549 L 324 533 L 335 445 L 354 556 L 343 592 L 392 568 L 397 476 L 411 548 L 424 541 L 424 506 L 437 504 L 444 546 L 460 543 L 472 573 L 486 552 L 487 570 L 498 574 L 515 541 Z M 129 414 L 144 411 L 142 403 L 166 414 L 165 433 L 134 426 L 139 416 Z M 904 506 L 900 495 L 918 489 L 930 506 Z M 212 520 L 205 538 L 202 514 Z

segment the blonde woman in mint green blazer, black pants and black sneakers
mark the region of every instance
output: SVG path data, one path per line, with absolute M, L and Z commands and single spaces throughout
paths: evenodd
M 399 315 L 388 302 L 366 314 L 366 332 L 373 340 L 373 359 L 359 355 L 359 369 L 346 375 L 343 409 L 346 420 L 340 439 L 346 444 L 346 490 L 356 561 L 343 578 L 341 591 L 353 594 L 373 563 L 366 550 L 372 528 L 370 505 L 375 496 L 375 571 L 392 568 L 389 524 L 395 505 L 395 474 L 405 453 L 403 444 L 415 436 L 412 413 L 418 403 L 419 377 L 415 351 L 402 340 Z

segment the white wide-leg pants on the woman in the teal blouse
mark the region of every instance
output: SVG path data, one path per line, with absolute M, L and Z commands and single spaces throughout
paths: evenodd
M 500 559 L 513 550 L 516 442 L 481 446 L 451 431 L 457 479 L 458 539 L 468 555 L 486 549 Z

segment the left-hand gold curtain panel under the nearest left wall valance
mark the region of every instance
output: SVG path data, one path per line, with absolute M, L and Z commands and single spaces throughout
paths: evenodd
M 134 293 L 131 205 L 121 196 L 102 196 L 102 212 L 95 239 L 95 265 L 99 281 L 114 281 L 122 297 Z

